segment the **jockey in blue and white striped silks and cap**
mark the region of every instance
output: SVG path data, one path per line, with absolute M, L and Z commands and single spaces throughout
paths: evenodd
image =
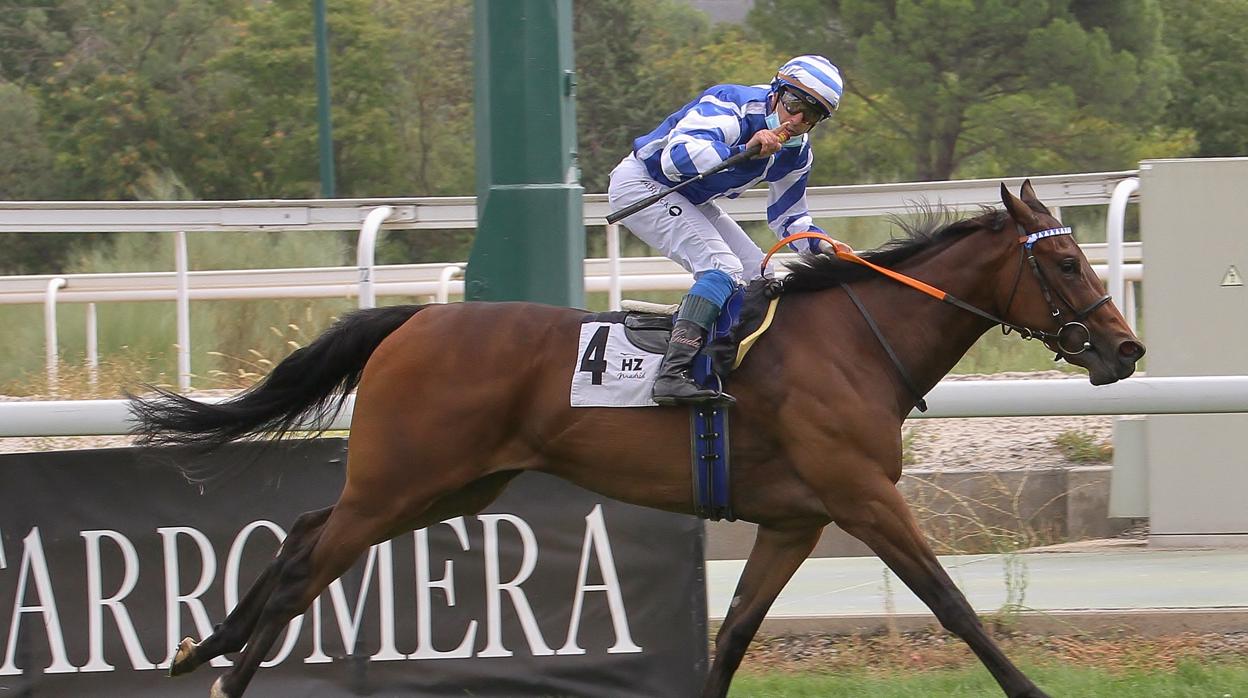
M 634 235 L 694 275 L 654 383 L 659 405 L 733 401 L 700 387 L 690 370 L 728 298 L 763 275 L 764 255 L 715 199 L 735 199 L 766 181 L 768 225 L 778 237 L 822 232 L 806 210 L 806 175 L 814 164 L 807 134 L 836 111 L 841 91 L 841 74 L 827 59 L 797 56 L 780 66 L 770 85 L 710 87 L 633 141 L 633 152 L 612 171 L 608 199 L 619 210 L 750 146 L 761 149 L 758 157 L 669 194 L 625 221 Z M 806 253 L 832 251 L 815 240 L 790 246 Z

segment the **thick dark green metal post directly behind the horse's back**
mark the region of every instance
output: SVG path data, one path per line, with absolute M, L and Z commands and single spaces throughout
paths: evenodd
M 475 0 L 469 300 L 584 306 L 572 0 Z

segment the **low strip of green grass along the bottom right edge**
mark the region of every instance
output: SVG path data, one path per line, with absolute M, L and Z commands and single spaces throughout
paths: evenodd
M 1194 659 L 1174 669 L 1114 672 L 1092 667 L 1023 668 L 1051 696 L 1080 698 L 1239 698 L 1248 696 L 1248 663 L 1206 666 Z M 741 674 L 729 693 L 735 698 L 1000 698 L 1001 688 L 982 668 L 896 671 L 890 674 L 764 673 Z

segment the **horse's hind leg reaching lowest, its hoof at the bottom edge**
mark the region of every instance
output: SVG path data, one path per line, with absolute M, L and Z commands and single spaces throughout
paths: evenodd
M 381 502 L 343 493 L 314 541 L 308 541 L 276 572 L 273 588 L 260 612 L 255 631 L 233 668 L 212 684 L 212 698 L 238 698 L 273 642 L 292 618 L 307 609 L 316 597 L 342 576 L 369 546 L 388 541 L 403 531 L 423 528 L 444 518 L 470 514 L 484 508 L 517 473 L 483 477 L 423 506 L 386 511 Z

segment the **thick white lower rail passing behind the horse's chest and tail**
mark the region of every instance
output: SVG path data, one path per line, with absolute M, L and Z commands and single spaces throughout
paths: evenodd
M 927 402 L 910 418 L 1248 412 L 1248 376 L 1139 376 L 1099 387 L 1082 377 L 941 381 Z M 348 428 L 353 407 L 351 396 L 331 428 Z M 0 402 L 0 438 L 124 435 L 131 426 L 122 400 Z

